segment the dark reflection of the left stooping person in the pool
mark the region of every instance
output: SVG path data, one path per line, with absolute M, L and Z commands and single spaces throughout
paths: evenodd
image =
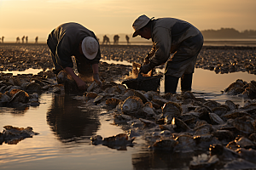
M 83 105 L 71 96 L 55 95 L 47 113 L 49 127 L 63 143 L 88 139 L 99 128 L 100 122 L 92 111 L 82 111 Z

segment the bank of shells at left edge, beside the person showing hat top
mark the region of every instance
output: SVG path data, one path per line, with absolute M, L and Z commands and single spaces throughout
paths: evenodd
M 38 75 L 17 75 L 0 73 L 0 105 L 29 106 L 39 105 L 38 97 L 55 85 L 51 77 L 52 71 L 40 72 Z

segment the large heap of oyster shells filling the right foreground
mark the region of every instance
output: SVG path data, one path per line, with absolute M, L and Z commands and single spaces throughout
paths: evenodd
M 113 88 L 118 86 L 113 84 Z M 255 99 L 247 99 L 245 105 L 236 105 L 231 100 L 219 104 L 197 98 L 191 92 L 166 95 L 130 88 L 106 89 L 102 88 L 97 94 L 102 96 L 101 102 L 96 103 L 95 99 L 85 96 L 86 105 L 109 108 L 107 113 L 113 115 L 113 122 L 129 129 L 130 138 L 143 136 L 149 149 L 173 153 L 204 150 L 207 153 L 210 147 L 218 145 L 222 150 L 235 152 L 244 161 L 247 157 L 238 150 L 255 154 L 252 150 L 256 148 Z M 95 140 L 92 142 L 94 144 Z M 207 166 L 212 161 L 213 167 L 230 163 L 221 160 L 222 156 L 222 152 L 209 152 L 206 160 L 191 161 L 190 168 Z

